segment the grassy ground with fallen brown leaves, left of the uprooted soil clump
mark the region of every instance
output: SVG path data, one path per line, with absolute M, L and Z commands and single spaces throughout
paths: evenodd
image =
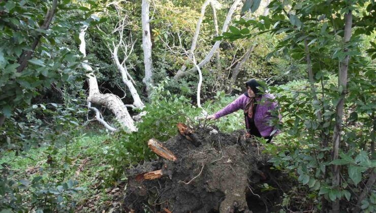
M 36 176 L 42 176 L 43 180 L 55 180 L 56 183 L 77 181 L 77 186 L 84 190 L 71 198 L 77 201 L 76 212 L 112 212 L 120 206 L 125 177 L 115 183 L 106 182 L 112 170 L 104 157 L 110 143 L 110 136 L 106 133 L 91 131 L 77 136 L 68 149 L 65 146 L 58 148 L 57 153 L 53 153 L 50 147 L 32 149 L 26 156 L 16 156 L 10 152 L 0 159 L 0 164 L 8 162 L 15 179 L 33 180 Z M 53 167 L 47 163 L 51 154 L 56 163 Z M 61 179 L 63 172 L 64 180 Z

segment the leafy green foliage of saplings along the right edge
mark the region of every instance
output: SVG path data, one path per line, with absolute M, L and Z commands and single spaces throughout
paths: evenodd
M 249 2 L 252 1 L 247 1 L 244 5 L 249 5 Z M 369 75 L 374 74 L 375 70 L 370 61 L 374 51 L 372 46 L 368 46 L 368 49 L 361 52 L 360 47 L 360 44 L 364 44 L 365 35 L 374 32 L 374 27 L 370 28 L 365 23 L 375 23 L 375 6 L 368 1 L 336 4 L 327 4 L 325 1 L 272 1 L 269 4 L 271 16 L 260 16 L 259 20 L 239 19 L 236 30 L 233 27 L 230 32 L 216 38 L 235 41 L 266 32 L 284 35 L 267 59 L 289 55 L 295 61 L 301 64 L 308 62 L 307 66 L 311 66 L 314 75 L 311 86 L 300 88 L 292 95 L 283 94 L 286 86 L 270 88 L 271 93 L 278 94 L 277 100 L 284 114 L 284 126 L 288 133 L 284 134 L 285 141 L 289 141 L 287 149 L 290 153 L 286 155 L 281 152 L 271 161 L 279 168 L 296 169 L 298 181 L 302 185 L 319 191 L 319 195 L 329 201 L 342 198 L 356 201 L 358 195 L 353 189 L 362 191 L 359 183 L 366 180 L 375 168 L 374 130 L 371 130 L 374 128 L 372 110 L 375 108 L 375 100 L 374 94 L 369 93 L 374 91 L 374 86 L 371 85 L 375 83 Z M 350 42 L 343 43 L 344 14 L 349 10 L 353 11 L 354 31 Z M 273 27 L 270 29 L 270 26 Z M 239 33 L 247 27 L 257 28 L 259 31 Z M 309 61 L 306 61 L 308 56 Z M 351 81 L 348 88 L 343 88 L 335 81 L 330 81 L 329 77 L 330 74 L 339 72 L 340 63 L 347 56 L 351 58 L 348 72 Z M 346 120 L 342 122 L 341 117 L 336 117 L 336 111 L 344 91 L 347 92 L 344 109 Z M 322 118 L 319 118 L 320 114 Z M 333 132 L 338 130 L 338 127 L 334 127 L 336 122 L 343 126 L 343 129 L 339 129 L 343 131 L 343 143 L 340 143 L 338 159 L 337 155 L 330 153 Z M 333 158 L 335 160 L 332 161 Z M 331 176 L 328 175 L 334 175 L 330 173 L 331 165 L 340 165 L 341 186 L 332 185 Z M 372 194 L 373 192 L 370 196 Z

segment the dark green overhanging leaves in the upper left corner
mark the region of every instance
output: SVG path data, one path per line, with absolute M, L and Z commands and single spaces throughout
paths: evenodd
M 61 15 L 69 8 L 59 4 L 50 28 L 42 28 L 46 1 L 7 1 L 0 3 L 0 115 L 10 118 L 14 109 L 29 105 L 42 88 L 61 88 L 68 81 L 82 81 L 77 67 L 83 59 L 67 48 L 59 48 L 57 37 L 64 37 L 75 21 Z M 36 49 L 33 49 L 35 44 Z M 34 47 L 35 48 L 35 47 Z M 18 69 L 28 51 L 33 58 Z

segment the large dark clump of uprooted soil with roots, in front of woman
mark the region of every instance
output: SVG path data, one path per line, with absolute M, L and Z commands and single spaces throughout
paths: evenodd
M 267 212 L 278 210 L 286 175 L 271 170 L 270 156 L 244 131 L 210 134 L 198 129 L 201 145 L 178 134 L 164 143 L 176 161 L 146 162 L 127 171 L 124 206 L 144 212 Z M 163 176 L 136 181 L 136 175 L 162 169 Z M 278 184 L 278 182 L 284 183 Z M 261 192 L 263 191 L 263 192 Z

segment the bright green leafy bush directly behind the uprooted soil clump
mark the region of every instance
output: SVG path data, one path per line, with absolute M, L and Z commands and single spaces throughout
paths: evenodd
M 106 158 L 114 167 L 111 172 L 114 177 L 121 175 L 128 165 L 155 158 L 147 146 L 150 138 L 166 141 L 177 134 L 177 123 L 186 123 L 187 119 L 193 121 L 193 117 L 199 115 L 200 109 L 193 107 L 189 99 L 165 90 L 167 83 L 165 80 L 153 89 L 151 103 L 143 109 L 147 114 L 137 125 L 137 132 L 115 133 L 114 143 L 106 151 Z

